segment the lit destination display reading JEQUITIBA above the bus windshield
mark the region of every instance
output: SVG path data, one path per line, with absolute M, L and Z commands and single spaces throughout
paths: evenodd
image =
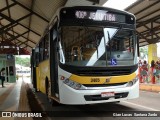
M 95 21 L 125 22 L 125 16 L 109 13 L 108 11 L 75 11 L 75 17 L 78 19 L 90 19 Z

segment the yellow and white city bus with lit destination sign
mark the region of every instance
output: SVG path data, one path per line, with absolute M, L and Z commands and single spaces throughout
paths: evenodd
M 32 50 L 33 86 L 61 104 L 139 97 L 133 14 L 102 6 L 62 7 Z

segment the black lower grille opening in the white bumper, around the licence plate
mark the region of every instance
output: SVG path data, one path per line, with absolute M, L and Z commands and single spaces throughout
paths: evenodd
M 119 99 L 126 98 L 128 96 L 128 92 L 123 93 L 115 93 L 113 97 L 101 97 L 101 95 L 84 95 L 86 101 L 99 101 L 99 100 L 109 100 L 110 98 Z

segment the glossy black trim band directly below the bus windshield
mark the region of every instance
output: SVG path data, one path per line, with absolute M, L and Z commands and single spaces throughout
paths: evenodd
M 79 76 L 119 76 L 132 74 L 137 70 L 138 64 L 132 66 L 90 67 L 66 65 L 59 62 L 59 67 Z

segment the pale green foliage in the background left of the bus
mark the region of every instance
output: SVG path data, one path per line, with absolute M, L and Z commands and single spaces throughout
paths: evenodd
M 22 65 L 24 67 L 30 67 L 30 58 L 22 58 L 16 56 L 16 64 Z

